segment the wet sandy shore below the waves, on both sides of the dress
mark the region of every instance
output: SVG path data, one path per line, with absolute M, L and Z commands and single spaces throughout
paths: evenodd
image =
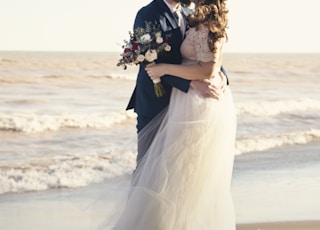
M 248 155 L 247 159 L 236 159 L 232 192 L 237 230 L 320 229 L 317 170 L 314 169 L 314 174 L 308 172 L 308 175 L 299 175 L 301 172 L 294 169 L 296 166 L 293 163 L 289 163 L 297 161 L 291 150 L 294 149 L 299 155 L 301 151 L 317 152 L 318 147 L 319 143 L 316 142 L 289 149 L 268 150 L 268 155 L 261 152 Z M 292 156 L 290 160 L 286 155 L 289 153 Z M 266 159 L 272 161 L 273 154 L 277 156 L 279 167 L 274 165 L 268 168 Z M 284 160 L 287 161 L 286 165 L 283 164 Z M 302 163 L 300 167 L 303 168 Z M 281 170 L 291 172 L 295 177 L 286 174 L 282 178 Z M 248 171 L 256 175 L 256 179 L 247 178 Z M 262 171 L 278 179 L 274 181 L 265 177 L 263 186 L 260 186 L 257 175 Z M 291 178 L 289 181 L 288 176 Z M 307 176 L 314 181 L 313 185 Z M 302 184 L 300 177 L 305 178 Z M 4 194 L 0 197 L 0 229 L 97 229 L 99 224 L 107 221 L 110 210 L 121 204 L 120 200 L 125 200 L 125 188 L 129 181 L 130 175 L 126 175 L 79 189 Z M 243 184 L 245 181 L 249 181 L 250 185 Z

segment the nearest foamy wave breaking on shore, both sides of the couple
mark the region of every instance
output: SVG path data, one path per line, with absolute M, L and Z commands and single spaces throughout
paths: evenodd
M 259 135 L 237 140 L 237 154 L 320 140 L 320 130 Z M 0 194 L 79 188 L 131 174 L 136 165 L 136 147 L 103 153 L 84 151 L 55 156 L 0 161 Z M 267 153 L 266 153 L 267 154 Z

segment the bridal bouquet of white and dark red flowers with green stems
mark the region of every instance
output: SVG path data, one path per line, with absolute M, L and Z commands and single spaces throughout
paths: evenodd
M 134 32 L 129 31 L 129 35 L 130 39 L 124 40 L 122 58 L 117 64 L 124 69 L 132 64 L 151 64 L 158 59 L 158 55 L 171 50 L 167 37 L 163 37 L 160 28 L 151 22 L 146 22 L 145 28 L 139 27 Z M 153 84 L 156 96 L 163 96 L 161 79 L 154 79 Z

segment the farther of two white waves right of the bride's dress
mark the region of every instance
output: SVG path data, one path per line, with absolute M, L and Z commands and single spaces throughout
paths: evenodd
M 250 101 L 236 104 L 238 115 L 277 116 L 295 111 L 320 110 L 320 100 L 298 98 L 279 101 Z

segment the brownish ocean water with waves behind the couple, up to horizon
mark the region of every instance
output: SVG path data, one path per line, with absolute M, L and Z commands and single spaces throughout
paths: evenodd
M 79 188 L 132 172 L 136 116 L 125 107 L 137 68 L 116 67 L 118 58 L 0 52 L 0 196 Z M 227 53 L 224 67 L 237 109 L 239 162 L 320 142 L 320 54 Z M 295 157 L 319 165 L 314 146 Z M 278 167 L 274 151 L 272 159 L 269 167 Z

